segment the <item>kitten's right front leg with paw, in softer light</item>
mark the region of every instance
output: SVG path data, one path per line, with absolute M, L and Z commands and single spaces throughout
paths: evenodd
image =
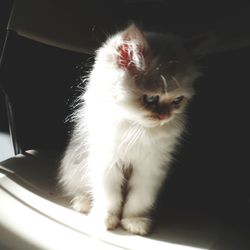
M 134 234 L 145 235 L 151 229 L 151 210 L 166 175 L 163 170 L 152 170 L 153 167 L 134 168 L 128 183 L 121 225 Z

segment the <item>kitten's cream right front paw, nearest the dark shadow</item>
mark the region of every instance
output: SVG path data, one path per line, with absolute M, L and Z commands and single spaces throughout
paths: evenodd
M 130 233 L 146 235 L 151 228 L 151 219 L 147 217 L 125 217 L 121 220 L 122 227 Z

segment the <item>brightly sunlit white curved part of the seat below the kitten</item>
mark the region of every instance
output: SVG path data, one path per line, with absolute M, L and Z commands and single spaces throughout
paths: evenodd
M 108 232 L 88 217 L 28 191 L 0 173 L 0 243 L 11 249 L 192 250 L 168 242 Z

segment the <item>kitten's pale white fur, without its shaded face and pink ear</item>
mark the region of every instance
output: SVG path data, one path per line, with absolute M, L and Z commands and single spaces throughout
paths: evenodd
M 90 216 L 107 229 L 121 218 L 126 230 L 143 235 L 185 119 L 176 114 L 168 122 L 148 120 L 134 106 L 133 78 L 117 65 L 121 43 L 119 33 L 97 51 L 59 179 L 74 209 L 88 212 L 92 206 Z M 126 168 L 132 175 L 124 200 Z

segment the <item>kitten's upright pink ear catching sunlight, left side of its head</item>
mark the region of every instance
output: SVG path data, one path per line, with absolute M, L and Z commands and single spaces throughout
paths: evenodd
M 148 44 L 143 33 L 135 24 L 132 24 L 121 33 L 121 38 L 122 43 L 117 49 L 119 66 L 131 74 L 145 70 Z

